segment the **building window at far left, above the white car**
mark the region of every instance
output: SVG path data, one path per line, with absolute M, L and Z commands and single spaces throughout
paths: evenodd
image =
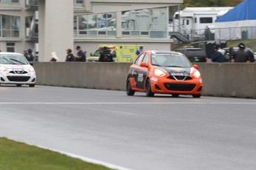
M 19 37 L 19 16 L 0 15 L 1 37 Z

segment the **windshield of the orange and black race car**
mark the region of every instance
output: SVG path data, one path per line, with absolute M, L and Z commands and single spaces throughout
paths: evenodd
M 152 55 L 151 63 L 161 67 L 192 67 L 186 56 L 169 53 Z

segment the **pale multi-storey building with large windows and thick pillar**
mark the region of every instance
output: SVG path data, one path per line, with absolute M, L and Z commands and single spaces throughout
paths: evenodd
M 1 0 L 1 51 L 32 49 L 39 61 L 77 45 L 93 52 L 97 44 L 142 44 L 144 50 L 170 50 L 171 7 L 183 0 Z

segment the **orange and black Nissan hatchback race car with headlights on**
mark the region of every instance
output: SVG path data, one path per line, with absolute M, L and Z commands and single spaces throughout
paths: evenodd
M 173 97 L 192 95 L 200 98 L 203 81 L 197 68 L 180 52 L 144 51 L 129 69 L 126 94 L 145 92 L 148 97 L 162 93 Z

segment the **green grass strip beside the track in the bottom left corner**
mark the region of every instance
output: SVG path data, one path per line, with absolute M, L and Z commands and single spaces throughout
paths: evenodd
M 0 137 L 1 170 L 110 170 L 65 154 Z

